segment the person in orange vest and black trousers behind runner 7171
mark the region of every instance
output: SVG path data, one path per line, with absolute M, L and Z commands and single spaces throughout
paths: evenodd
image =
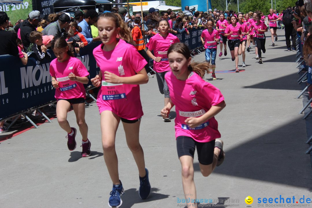
M 147 62 L 147 64 L 144 66 L 144 68 L 147 72 L 147 76 L 149 78 L 154 78 L 154 76 L 151 74 L 152 70 L 149 68 L 149 56 L 146 54 L 146 51 L 145 51 L 145 43 L 144 43 L 144 38 L 142 36 L 142 32 L 140 29 L 140 23 L 141 23 L 141 18 L 135 17 L 134 18 L 134 27 L 131 30 L 132 38 L 135 42 L 134 47 L 139 51 L 139 54 Z

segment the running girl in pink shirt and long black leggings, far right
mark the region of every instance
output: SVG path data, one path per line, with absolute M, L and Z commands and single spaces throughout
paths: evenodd
M 252 25 L 254 28 L 255 34 L 254 34 L 254 40 L 256 42 L 256 46 L 258 49 L 258 56 L 259 56 L 259 64 L 262 64 L 262 56 L 261 56 L 261 50 L 263 53 L 266 52 L 266 35 L 264 32 L 268 31 L 268 28 L 266 27 L 266 24 L 263 22 L 260 22 L 261 16 L 259 14 L 256 15 L 256 23 Z

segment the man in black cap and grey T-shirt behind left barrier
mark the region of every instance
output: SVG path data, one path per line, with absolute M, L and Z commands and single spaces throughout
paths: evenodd
M 73 21 L 73 20 L 72 20 Z M 67 37 L 67 32 L 70 29 L 71 18 L 63 13 L 56 22 L 48 24 L 42 31 L 43 35 L 52 35 L 54 38 Z

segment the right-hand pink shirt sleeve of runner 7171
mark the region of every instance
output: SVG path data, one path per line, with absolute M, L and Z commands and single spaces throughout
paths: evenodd
M 135 71 L 141 71 L 147 64 L 146 60 L 139 54 L 138 50 L 134 46 L 130 46 L 127 49 L 127 58 L 129 59 L 129 66 Z

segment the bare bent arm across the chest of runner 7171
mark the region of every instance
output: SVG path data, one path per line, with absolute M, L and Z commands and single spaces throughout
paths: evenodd
M 131 85 L 146 84 L 149 81 L 149 77 L 147 76 L 145 68 L 136 73 L 137 74 L 133 76 L 120 77 L 115 75 L 114 73 L 105 71 L 104 79 L 106 82 L 113 84 L 131 84 Z

